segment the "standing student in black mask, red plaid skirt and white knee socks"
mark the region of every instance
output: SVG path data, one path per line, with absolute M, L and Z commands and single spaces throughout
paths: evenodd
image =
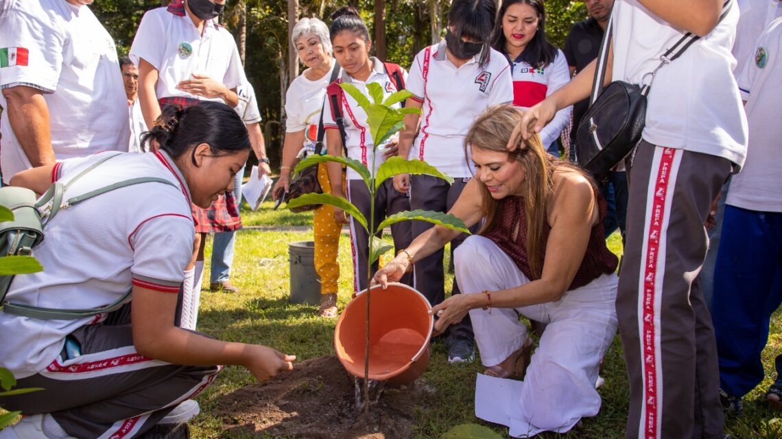
M 138 64 L 138 98 L 150 129 L 163 105 L 189 107 L 217 101 L 231 108 L 239 104 L 236 89 L 246 81 L 234 38 L 213 19 L 225 0 L 175 0 L 167 8 L 145 13 L 131 45 L 130 58 Z M 225 192 L 207 209 L 193 206 L 195 248 L 185 269 L 181 327 L 195 329 L 198 316 L 205 234 L 231 232 L 242 226 L 239 202 Z M 234 287 L 224 280 L 221 290 Z

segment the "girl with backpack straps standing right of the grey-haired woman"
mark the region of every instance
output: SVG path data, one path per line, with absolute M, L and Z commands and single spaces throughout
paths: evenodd
M 352 84 L 364 95 L 368 95 L 367 84 L 380 84 L 384 99 L 397 91 L 397 81 L 404 80 L 407 72 L 400 66 L 381 62 L 374 56 L 369 56 L 371 41 L 369 30 L 356 9 L 345 6 L 336 10 L 332 16 L 330 36 L 334 50 L 334 58 L 342 67 L 342 74 L 337 83 Z M 394 75 L 393 72 L 396 72 Z M 396 76 L 396 78 L 394 77 Z M 332 96 L 334 99 L 332 100 Z M 336 102 L 336 106 L 334 105 Z M 332 83 L 326 93 L 326 105 L 330 111 L 323 115 L 323 127 L 326 130 L 326 148 L 330 155 L 342 155 L 343 145 L 347 156 L 364 163 L 371 172 L 376 173 L 378 166 L 385 161 L 387 151 L 378 148 L 375 152 L 375 140 L 369 133 L 367 113 L 358 106 L 353 97 L 343 92 L 339 85 Z M 399 104 L 394 104 L 399 107 Z M 341 116 L 341 117 L 340 117 Z M 342 119 L 343 127 L 339 127 L 337 119 Z M 345 138 L 340 131 L 344 130 Z M 374 164 L 375 169 L 372 170 Z M 371 197 L 364 180 L 356 171 L 347 168 L 346 187 L 342 185 L 342 166 L 339 163 L 328 163 L 328 180 L 332 185 L 332 195 L 347 198 L 355 205 L 364 218 L 369 220 Z M 393 190 L 391 180 L 383 182 L 375 193 L 375 225 L 386 216 L 410 209 L 407 194 Z M 334 209 L 335 222 L 347 223 L 348 217 L 342 209 Z M 397 251 L 407 247 L 413 240 L 410 223 L 403 221 L 391 226 L 391 236 Z M 361 223 L 350 218 L 350 244 L 353 254 L 353 291 L 358 292 L 367 287 L 367 259 L 369 255 L 369 234 Z M 410 283 L 410 277 L 402 282 Z

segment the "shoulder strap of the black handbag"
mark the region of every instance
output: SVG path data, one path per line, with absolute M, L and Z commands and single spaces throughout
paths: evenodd
M 723 2 L 723 12 L 719 16 L 719 22 L 721 22 L 725 17 L 727 16 L 728 12 L 730 12 L 730 8 L 733 5 L 734 0 L 725 0 Z M 592 95 L 590 96 L 590 105 L 592 105 L 595 100 L 597 100 L 597 96 L 600 95 L 600 92 L 603 91 L 604 82 L 605 82 L 605 73 L 608 69 L 608 48 L 611 45 L 611 37 L 614 30 L 614 12 L 611 13 L 611 18 L 608 19 L 608 31 L 603 35 L 603 41 L 601 42 L 600 46 L 600 52 L 597 54 L 597 65 L 595 66 L 594 70 L 594 81 L 592 83 Z M 641 95 L 647 96 L 649 94 L 649 91 L 651 90 L 651 83 L 655 80 L 655 74 L 658 70 L 662 68 L 662 66 L 665 66 L 666 64 L 670 64 L 673 62 L 673 60 L 679 58 L 684 51 L 687 50 L 687 48 L 690 48 L 691 45 L 695 41 L 698 41 L 701 37 L 699 35 L 693 34 L 692 32 L 687 32 L 687 34 L 684 34 L 679 41 L 676 41 L 676 44 L 674 44 L 671 48 L 667 49 L 665 53 L 660 55 L 660 64 L 655 68 L 655 70 L 652 70 L 651 72 L 648 72 L 644 74 L 644 77 L 641 78 Z

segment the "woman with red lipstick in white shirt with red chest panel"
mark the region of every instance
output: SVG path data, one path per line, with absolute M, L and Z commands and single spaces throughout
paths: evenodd
M 513 104 L 529 108 L 570 80 L 565 54 L 546 38 L 543 0 L 504 0 L 492 47 L 508 57 L 513 74 Z M 569 127 L 572 106 L 557 112 L 540 131 L 540 141 L 559 157 L 557 138 Z

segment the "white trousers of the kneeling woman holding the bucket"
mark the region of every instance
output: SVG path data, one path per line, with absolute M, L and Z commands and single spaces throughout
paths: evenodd
M 529 283 L 510 256 L 482 236 L 468 237 L 457 248 L 454 268 L 466 294 Z M 548 323 L 518 398 L 518 410 L 530 425 L 561 430 L 600 411 L 601 398 L 594 384 L 599 363 L 616 334 L 616 285 L 616 275 L 605 274 L 566 292 L 558 302 L 470 311 L 485 366 L 503 362 L 522 347 L 528 335 L 519 315 Z

